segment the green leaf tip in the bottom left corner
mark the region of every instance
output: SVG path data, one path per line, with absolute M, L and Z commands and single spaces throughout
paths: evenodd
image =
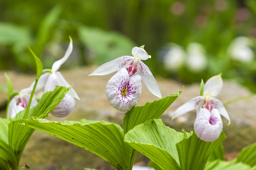
M 0 139 L 0 157 L 11 167 L 11 169 L 19 168 L 19 164 L 15 159 L 15 155 L 12 147 L 6 144 L 2 139 Z

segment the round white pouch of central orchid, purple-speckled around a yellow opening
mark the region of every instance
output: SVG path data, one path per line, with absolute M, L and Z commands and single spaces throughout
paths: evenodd
M 106 95 L 109 104 L 118 111 L 130 110 L 140 100 L 141 77 L 139 75 L 129 77 L 128 71 L 123 68 L 108 81 Z

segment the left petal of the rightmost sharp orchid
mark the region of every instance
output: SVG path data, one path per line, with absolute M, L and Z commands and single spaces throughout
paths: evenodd
M 191 100 L 188 100 L 185 104 L 183 104 L 182 106 L 177 108 L 177 110 L 175 110 L 172 116 L 172 120 L 177 116 L 180 116 L 189 111 L 195 110 L 199 106 L 202 100 L 204 100 L 204 96 L 197 96 Z

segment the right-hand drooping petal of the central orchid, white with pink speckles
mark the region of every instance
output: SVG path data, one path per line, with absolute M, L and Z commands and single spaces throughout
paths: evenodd
M 144 64 L 142 61 L 139 61 L 137 64 L 138 74 L 140 75 L 143 83 L 148 88 L 149 92 L 154 94 L 155 96 L 162 98 L 160 89 L 156 83 L 156 79 L 153 74 L 149 70 L 148 66 Z

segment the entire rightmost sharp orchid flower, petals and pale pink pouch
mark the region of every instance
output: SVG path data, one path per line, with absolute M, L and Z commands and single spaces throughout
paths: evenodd
M 194 129 L 197 137 L 202 140 L 212 142 L 216 140 L 222 132 L 223 123 L 221 116 L 224 116 L 230 124 L 230 118 L 225 107 L 217 96 L 223 86 L 221 74 L 213 76 L 206 81 L 202 96 L 197 96 L 180 106 L 173 114 L 172 120 L 180 115 L 196 109 L 196 120 Z

